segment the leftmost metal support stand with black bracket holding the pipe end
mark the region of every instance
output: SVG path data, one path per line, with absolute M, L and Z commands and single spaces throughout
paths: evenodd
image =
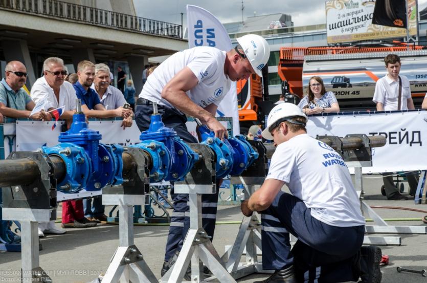
M 37 176 L 26 185 L 18 185 L 19 180 L 2 180 L 10 184 L 2 186 L 3 219 L 19 221 L 21 225 L 21 281 L 50 283 L 52 279 L 39 266 L 38 222 L 49 222 L 56 216 L 53 163 L 49 157 L 33 151 L 13 152 L 7 160 L 32 164 L 27 170 L 33 170 Z

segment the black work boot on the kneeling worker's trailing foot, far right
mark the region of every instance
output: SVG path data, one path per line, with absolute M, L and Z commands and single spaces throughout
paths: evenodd
M 383 275 L 379 269 L 381 249 L 377 246 L 361 248 L 361 279 L 362 283 L 380 283 Z

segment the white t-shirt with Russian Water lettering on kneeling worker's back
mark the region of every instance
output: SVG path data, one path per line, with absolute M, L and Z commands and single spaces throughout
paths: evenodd
M 311 216 L 323 223 L 365 224 L 347 165 L 335 150 L 307 134 L 277 146 L 265 179 L 284 181 L 311 208 Z

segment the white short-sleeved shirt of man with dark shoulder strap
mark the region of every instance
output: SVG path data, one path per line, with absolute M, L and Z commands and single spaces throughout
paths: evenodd
M 402 79 L 402 97 L 400 110 L 408 110 L 408 98 L 411 98 L 411 88 L 406 76 L 400 76 Z M 399 80 L 394 81 L 388 75 L 380 78 L 375 84 L 375 93 L 373 102 L 381 102 L 384 105 L 384 111 L 397 110 L 397 100 L 399 97 Z

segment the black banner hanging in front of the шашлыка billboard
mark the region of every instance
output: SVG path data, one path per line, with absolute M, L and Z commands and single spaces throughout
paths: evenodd
M 406 0 L 376 0 L 372 24 L 406 29 Z

